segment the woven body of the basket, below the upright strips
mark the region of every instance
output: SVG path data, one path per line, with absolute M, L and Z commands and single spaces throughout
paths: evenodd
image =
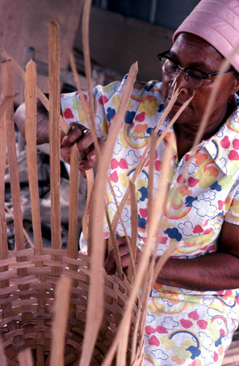
M 59 260 L 53 260 L 54 256 Z M 71 289 L 72 314 L 68 317 L 64 365 L 79 365 L 89 289 L 87 263 L 89 257 L 83 254 L 79 254 L 79 259 L 75 260 L 68 258 L 66 250 L 51 248 L 43 248 L 42 256 L 36 256 L 35 249 L 9 252 L 9 258 L 0 261 L 0 332 L 8 365 L 18 365 L 17 355 L 25 347 L 31 348 L 35 361 L 39 362 L 39 358 L 43 357 L 44 363 L 40 364 L 49 364 L 51 310 L 55 296 L 54 288 L 59 276 L 68 276 L 76 280 L 76 286 L 72 286 Z M 75 265 L 76 271 L 70 270 L 69 265 Z M 19 269 L 24 276 L 18 276 Z M 59 276 L 53 274 L 56 271 L 59 272 Z M 91 365 L 101 365 L 104 355 L 111 347 L 131 289 L 126 277 L 122 281 L 117 275 L 106 274 L 105 279 L 107 284 L 104 283 L 104 293 L 107 295 L 107 302 L 104 302 L 104 326 L 98 333 Z M 131 335 L 139 306 L 140 302 L 137 302 L 132 315 Z M 143 352 L 139 343 L 138 337 L 133 365 L 143 364 Z M 130 343 L 127 365 L 130 365 Z

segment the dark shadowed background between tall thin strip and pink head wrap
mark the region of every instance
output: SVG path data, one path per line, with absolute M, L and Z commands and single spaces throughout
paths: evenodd
M 175 29 L 199 0 L 94 0 L 92 57 L 121 75 L 139 62 L 139 80 L 160 80 L 157 53 L 170 49 Z M 76 47 L 82 50 L 81 29 Z

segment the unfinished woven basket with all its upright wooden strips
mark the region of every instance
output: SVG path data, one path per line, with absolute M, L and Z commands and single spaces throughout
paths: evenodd
M 59 27 L 51 21 L 49 26 L 49 84 L 47 99 L 36 86 L 36 65 L 27 65 L 26 73 L 20 69 L 8 53 L 1 48 L 3 93 L 0 119 L 0 364 L 1 365 L 143 365 L 143 333 L 147 315 L 147 299 L 156 274 L 173 253 L 171 246 L 165 255 L 156 261 L 154 232 L 160 230 L 160 217 L 164 199 L 167 197 L 167 180 L 171 145 L 166 149 L 163 169 L 156 197 L 153 197 L 154 151 L 169 127 L 186 108 L 180 108 L 167 129 L 160 136 L 157 132 L 171 106 L 178 97 L 175 90 L 169 106 L 158 122 L 155 132 L 148 138 L 145 151 L 129 182 L 121 203 L 110 221 L 105 208 L 104 195 L 107 172 L 113 147 L 124 119 L 132 86 L 137 75 L 137 64 L 132 65 L 124 93 L 119 103 L 109 138 L 100 151 L 94 121 L 91 69 L 89 60 L 88 25 L 91 1 L 86 0 L 83 12 L 83 48 L 85 73 L 87 75 L 89 105 L 85 105 L 74 59 L 71 57 L 76 85 L 88 123 L 94 136 L 98 155 L 98 173 L 93 186 L 93 173 L 87 173 L 88 197 L 83 221 L 83 230 L 89 245 L 88 256 L 78 253 L 77 205 L 79 194 L 79 152 L 74 147 L 70 167 L 69 238 L 68 250 L 61 249 L 60 214 L 60 165 L 59 126 L 68 133 L 68 125 L 60 116 L 59 107 Z M 20 206 L 20 185 L 14 138 L 12 67 L 25 82 L 26 140 L 31 210 L 33 217 L 34 247 L 25 249 L 23 217 Z M 36 169 L 36 96 L 49 112 L 51 151 L 51 236 L 52 247 L 42 245 L 40 208 L 38 201 L 38 172 Z M 213 98 L 213 97 L 212 97 Z M 205 119 L 206 121 L 206 119 Z M 201 132 L 199 132 L 201 133 Z M 6 150 L 14 208 L 16 250 L 8 251 L 5 224 L 4 172 Z M 148 154 L 149 153 L 149 154 Z M 139 269 L 135 272 L 137 243 L 137 197 L 135 183 L 145 164 L 149 162 L 149 216 L 147 243 Z M 110 186 L 110 182 L 109 186 Z M 89 193 L 92 191 L 92 195 Z M 175 191 L 175 197 L 180 189 Z M 112 190 L 113 191 L 113 190 Z M 115 239 L 117 222 L 127 200 L 131 202 L 131 244 L 128 277 L 122 270 Z M 113 276 L 104 272 L 104 217 L 110 229 L 109 248 L 115 251 L 117 271 Z M 124 226 L 124 222 L 122 221 Z M 125 228 L 124 228 L 125 230 Z M 127 234 L 125 230 L 125 234 Z M 150 260 L 151 256 L 151 260 Z M 146 276 L 145 276 L 146 273 Z M 64 278 L 59 283 L 59 278 Z M 71 280 L 68 280 L 68 279 Z M 59 286 L 58 286 L 59 285 Z M 137 297 L 141 288 L 141 301 Z M 29 350 L 31 353 L 29 353 Z

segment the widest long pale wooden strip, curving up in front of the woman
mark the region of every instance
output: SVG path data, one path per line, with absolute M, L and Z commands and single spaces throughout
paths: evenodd
M 104 212 L 104 196 L 102 190 L 104 182 L 107 178 L 107 169 L 115 145 L 115 140 L 119 132 L 119 127 L 124 116 L 128 100 L 132 92 L 132 86 L 135 82 L 137 75 L 137 64 L 131 66 L 128 79 L 126 80 L 126 86 L 122 94 L 122 99 L 119 103 L 119 109 L 117 110 L 113 126 L 109 132 L 109 138 L 104 149 L 102 156 L 98 159 L 98 174 L 96 177 L 95 195 L 97 197 L 94 200 L 94 215 L 92 215 L 92 266 L 90 287 L 89 287 L 89 300 L 87 306 L 87 326 L 85 328 L 85 337 L 83 341 L 83 351 L 81 354 L 81 363 L 87 364 L 91 358 L 93 352 L 94 343 L 96 341 L 98 327 L 103 317 L 103 304 L 102 304 L 102 264 L 104 260 L 104 235 L 103 235 L 103 212 Z M 116 258 L 116 256 L 115 256 Z M 118 263 L 117 263 L 118 264 Z M 117 266 L 119 267 L 119 266 Z M 96 300 L 97 293 L 97 300 Z M 101 300 L 101 301 L 100 301 Z M 98 308 L 96 313 L 95 302 L 98 302 Z M 93 335 L 94 334 L 94 335 Z

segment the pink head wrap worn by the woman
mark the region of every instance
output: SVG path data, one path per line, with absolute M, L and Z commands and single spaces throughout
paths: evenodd
M 239 0 L 201 0 L 173 34 L 196 34 L 206 40 L 225 58 L 239 43 Z M 239 72 L 239 51 L 231 61 Z

